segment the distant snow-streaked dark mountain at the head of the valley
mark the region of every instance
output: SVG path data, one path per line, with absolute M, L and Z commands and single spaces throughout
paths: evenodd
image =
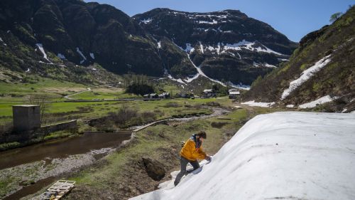
M 250 85 L 297 47 L 268 24 L 240 11 L 153 9 L 133 19 L 157 41 L 175 43 L 208 77 L 234 84 Z M 188 75 L 195 74 L 191 71 Z

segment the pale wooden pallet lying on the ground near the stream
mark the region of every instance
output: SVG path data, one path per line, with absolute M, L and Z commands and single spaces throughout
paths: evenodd
M 58 200 L 75 186 L 75 181 L 59 180 L 43 194 L 33 197 L 33 200 Z

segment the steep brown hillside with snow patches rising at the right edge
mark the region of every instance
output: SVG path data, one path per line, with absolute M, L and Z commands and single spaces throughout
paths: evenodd
M 331 111 L 355 110 L 355 7 L 300 41 L 290 61 L 253 83 L 245 100 L 290 107 L 332 101 Z M 307 107 L 307 106 L 303 106 Z

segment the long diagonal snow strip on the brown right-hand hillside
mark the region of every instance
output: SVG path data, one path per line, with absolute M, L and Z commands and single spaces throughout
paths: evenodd
M 285 98 L 287 98 L 288 95 L 290 95 L 290 93 L 293 92 L 293 90 L 298 88 L 300 85 L 305 83 L 308 79 L 310 79 L 315 73 L 317 73 L 319 70 L 324 68 L 324 66 L 327 65 L 331 61 L 330 56 L 332 56 L 332 54 L 325 56 L 324 58 L 320 59 L 317 63 L 315 63 L 315 65 L 313 65 L 310 68 L 307 68 L 307 70 L 304 70 L 301 73 L 300 78 L 293 80 L 290 83 L 290 86 L 288 87 L 288 89 L 283 91 L 283 95 L 281 95 L 280 100 L 284 100 Z

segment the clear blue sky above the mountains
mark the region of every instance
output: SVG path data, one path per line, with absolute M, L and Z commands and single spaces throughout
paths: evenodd
M 85 0 L 91 1 L 91 0 Z M 236 9 L 266 22 L 292 41 L 300 41 L 310 31 L 329 24 L 329 17 L 345 12 L 355 0 L 97 0 L 110 4 L 129 16 L 155 8 L 178 11 L 222 11 Z

